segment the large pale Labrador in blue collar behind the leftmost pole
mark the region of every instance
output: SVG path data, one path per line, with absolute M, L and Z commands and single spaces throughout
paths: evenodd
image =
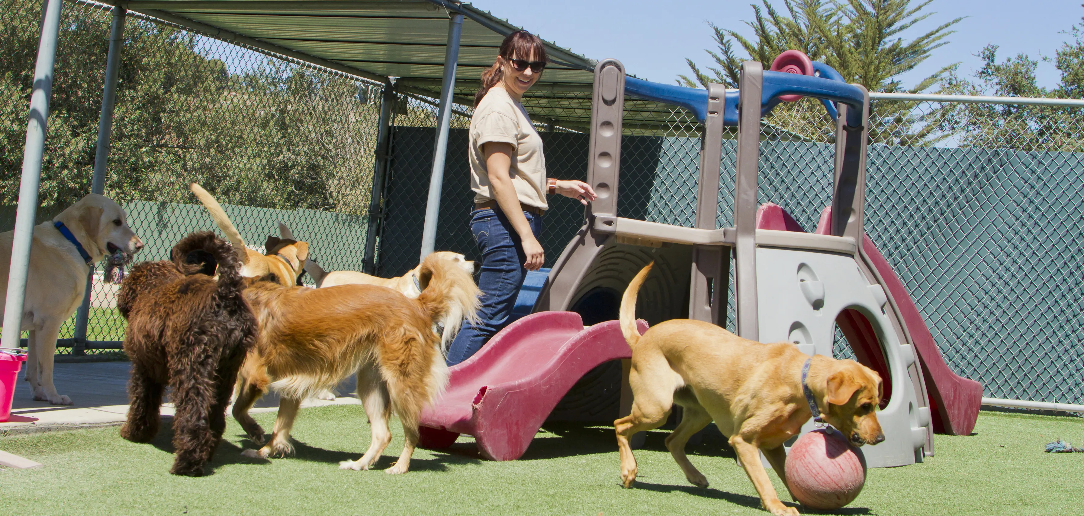
M 14 231 L 0 233 L 0 292 L 8 291 L 13 236 Z M 34 399 L 72 405 L 53 385 L 53 353 L 61 325 L 82 303 L 91 265 L 109 255 L 111 267 L 122 266 L 142 248 L 143 241 L 128 227 L 125 211 L 98 194 L 34 227 L 22 323 L 22 330 L 29 332 L 26 380 Z M 0 294 L 0 312 L 4 297 Z

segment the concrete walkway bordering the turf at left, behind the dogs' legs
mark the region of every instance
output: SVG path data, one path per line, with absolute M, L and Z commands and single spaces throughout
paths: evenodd
M 26 366 L 20 374 L 12 402 L 12 415 L 0 423 L 0 435 L 55 429 L 115 426 L 128 414 L 128 371 L 131 362 L 56 363 L 53 384 L 56 392 L 72 398 L 73 405 L 60 407 L 49 401 L 35 401 L 30 386 L 23 381 Z M 360 405 L 353 396 L 354 380 L 347 380 L 336 391 L 335 400 L 311 399 L 301 408 L 327 405 Z M 341 397 L 347 396 L 347 397 Z M 256 403 L 253 412 L 271 412 L 279 408 L 279 396 L 270 394 Z M 163 416 L 173 415 L 172 405 L 162 406 Z

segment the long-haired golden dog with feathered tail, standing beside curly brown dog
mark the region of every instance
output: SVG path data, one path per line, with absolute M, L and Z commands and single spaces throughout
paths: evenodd
M 284 288 L 254 281 L 245 297 L 256 314 L 259 336 L 238 373 L 233 416 L 249 438 L 263 442 L 263 428 L 248 414 L 268 388 L 282 395 L 271 439 L 246 455 L 293 452 L 289 432 L 301 400 L 358 374 L 358 398 L 372 425 L 364 457 L 343 461 L 344 469 L 367 469 L 391 440 L 388 416 L 402 422 L 406 442 L 395 466 L 410 468 L 422 409 L 448 383 L 448 366 L 434 321 L 455 314 L 455 327 L 477 319 L 480 291 L 454 264 L 429 255 L 420 272 L 427 287 L 409 299 L 385 287 L 343 285 L 326 289 Z

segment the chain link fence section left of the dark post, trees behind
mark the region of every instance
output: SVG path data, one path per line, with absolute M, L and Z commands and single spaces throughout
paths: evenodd
M 64 3 L 38 222 L 90 191 L 111 8 Z M 41 9 L 40 0 L 0 0 L 4 230 L 14 224 Z M 283 222 L 323 267 L 360 270 L 379 93 L 377 83 L 129 13 L 104 194 L 146 243 L 137 260 L 167 259 L 185 234 L 217 230 L 188 189 L 197 182 L 248 247 L 262 250 Z M 120 341 L 117 287 L 100 278 L 87 340 Z

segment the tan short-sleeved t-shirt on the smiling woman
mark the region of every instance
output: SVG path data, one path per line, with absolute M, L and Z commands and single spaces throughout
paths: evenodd
M 486 154 L 481 149 L 482 144 L 489 142 L 503 142 L 516 147 L 508 174 L 519 202 L 549 209 L 542 138 L 527 118 L 527 111 L 503 88 L 490 88 L 470 118 L 470 189 L 475 191 L 475 202 L 493 199 L 489 191 Z

